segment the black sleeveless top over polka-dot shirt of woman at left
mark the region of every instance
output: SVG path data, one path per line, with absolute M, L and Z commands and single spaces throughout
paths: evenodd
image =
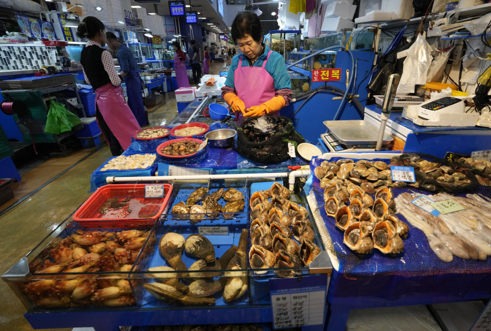
M 102 52 L 104 52 L 104 49 L 97 45 L 91 45 L 85 46 L 80 53 L 80 63 L 82 64 L 88 80 L 91 81 L 94 90 L 111 82 L 109 75 L 104 69 L 104 64 L 102 63 Z

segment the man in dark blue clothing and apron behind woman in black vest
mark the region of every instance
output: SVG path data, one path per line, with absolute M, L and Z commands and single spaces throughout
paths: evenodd
M 140 126 L 148 125 L 148 113 L 143 104 L 142 90 L 143 82 L 139 75 L 140 68 L 133 53 L 126 45 L 122 45 L 116 35 L 112 32 L 106 32 L 107 46 L 117 51 L 118 62 L 121 67 L 120 77 L 126 83 L 126 92 L 128 95 L 128 106 L 135 115 Z

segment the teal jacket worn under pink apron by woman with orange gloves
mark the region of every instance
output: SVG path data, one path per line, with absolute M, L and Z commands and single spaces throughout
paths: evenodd
M 266 60 L 267 53 L 270 48 L 264 45 L 264 52 L 259 56 L 259 58 L 254 62 L 253 67 L 262 67 L 262 64 Z M 235 55 L 232 59 L 232 64 L 230 65 L 229 73 L 227 74 L 227 80 L 225 81 L 225 86 L 221 88 L 222 96 L 225 93 L 233 92 L 237 94 L 234 84 L 234 71 L 239 65 L 239 59 L 242 57 L 242 67 L 249 65 L 249 62 L 245 55 L 239 54 Z M 288 76 L 286 70 L 285 61 L 283 56 L 278 52 L 271 52 L 270 58 L 266 62 L 264 69 L 273 77 L 275 82 L 275 96 L 281 95 L 285 98 L 285 104 L 287 105 L 292 99 L 292 81 Z M 253 82 L 251 82 L 253 83 Z

